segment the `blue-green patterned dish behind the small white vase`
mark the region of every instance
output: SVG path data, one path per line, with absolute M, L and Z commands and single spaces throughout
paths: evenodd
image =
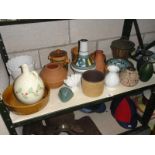
M 115 58 L 111 58 L 109 60 L 107 60 L 107 65 L 116 65 L 120 68 L 121 70 L 124 70 L 126 68 L 133 68 L 134 65 L 132 64 L 132 62 L 130 62 L 129 60 L 126 59 L 115 59 Z

